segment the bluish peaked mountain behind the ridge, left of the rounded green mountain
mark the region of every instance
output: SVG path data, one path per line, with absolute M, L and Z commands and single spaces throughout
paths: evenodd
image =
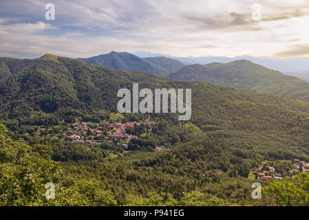
M 166 76 L 167 74 L 175 72 L 184 66 L 180 63 L 180 61 L 165 58 L 163 56 L 156 58 L 139 58 L 138 56 L 127 52 L 110 52 L 109 54 L 79 59 L 87 63 L 109 67 L 112 69 L 142 71 L 161 76 Z

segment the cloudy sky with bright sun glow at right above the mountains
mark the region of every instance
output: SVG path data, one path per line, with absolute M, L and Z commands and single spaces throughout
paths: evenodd
M 52 3 L 55 19 L 47 21 Z M 260 9 L 260 13 L 259 13 Z M 0 56 L 309 56 L 308 0 L 1 0 Z

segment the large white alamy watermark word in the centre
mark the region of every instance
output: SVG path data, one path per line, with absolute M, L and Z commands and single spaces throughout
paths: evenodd
M 168 113 L 170 106 L 171 113 L 176 113 L 178 110 L 178 113 L 184 114 L 179 115 L 179 120 L 190 120 L 191 89 L 186 89 L 186 104 L 184 104 L 184 89 L 177 89 L 177 92 L 176 89 L 155 89 L 154 94 L 154 113 Z M 133 83 L 133 109 L 131 109 L 131 91 L 129 89 L 119 89 L 117 97 L 123 97 L 117 104 L 117 110 L 120 113 L 153 113 L 153 92 L 151 89 L 141 89 L 138 92 L 138 83 Z M 139 98 L 143 99 L 138 102 Z M 170 105 L 169 100 L 171 100 Z

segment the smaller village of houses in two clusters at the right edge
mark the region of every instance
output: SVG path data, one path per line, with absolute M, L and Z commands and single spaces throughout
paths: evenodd
M 309 163 L 305 161 L 300 161 L 299 159 L 294 159 L 294 163 L 292 164 L 294 167 L 288 173 L 290 175 L 297 175 L 302 172 L 309 172 Z M 281 173 L 276 172 L 273 166 L 263 165 L 259 166 L 257 170 L 255 170 L 255 175 L 257 179 L 261 179 L 267 181 L 269 179 L 282 179 L 283 176 Z

